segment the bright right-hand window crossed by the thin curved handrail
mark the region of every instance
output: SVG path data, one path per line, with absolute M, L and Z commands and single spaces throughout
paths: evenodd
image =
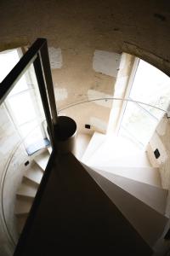
M 139 60 L 128 98 L 167 110 L 170 103 L 170 79 L 156 67 Z M 119 135 L 145 147 L 163 112 L 140 103 L 127 102 Z

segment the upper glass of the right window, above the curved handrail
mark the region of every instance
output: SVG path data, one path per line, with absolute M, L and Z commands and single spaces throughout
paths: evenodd
M 156 67 L 140 60 L 130 91 L 130 98 L 167 110 L 170 102 L 169 77 Z M 144 105 L 142 107 L 150 111 L 157 119 L 161 118 L 159 110 Z

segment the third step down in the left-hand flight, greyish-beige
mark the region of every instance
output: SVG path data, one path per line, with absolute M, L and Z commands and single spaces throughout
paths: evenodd
M 37 188 L 38 185 L 36 183 L 32 183 L 29 180 L 23 180 L 23 182 L 20 184 L 19 189 L 16 192 L 16 195 L 35 197 L 37 193 Z

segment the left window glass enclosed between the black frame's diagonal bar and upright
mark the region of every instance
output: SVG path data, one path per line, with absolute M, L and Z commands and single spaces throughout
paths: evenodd
M 37 87 L 37 79 L 31 64 L 5 101 L 20 137 L 25 139 L 26 151 L 29 146 L 33 148 L 34 143 L 41 142 L 47 137 L 42 127 L 44 112 Z

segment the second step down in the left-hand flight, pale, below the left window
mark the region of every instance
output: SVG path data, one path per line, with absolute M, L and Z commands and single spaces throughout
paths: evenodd
M 24 174 L 24 177 L 30 179 L 31 181 L 37 184 L 41 183 L 42 176 L 43 176 L 42 168 L 37 166 L 37 164 L 34 164 L 33 166 L 31 166 L 31 168 L 28 169 Z

